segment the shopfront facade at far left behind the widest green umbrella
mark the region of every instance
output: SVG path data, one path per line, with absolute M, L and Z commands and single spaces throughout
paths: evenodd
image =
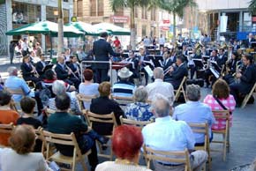
M 49 36 L 42 34 L 6 36 L 13 28 L 37 21 L 57 22 L 56 0 L 2 0 L 0 4 L 0 56 L 7 56 L 10 41 L 18 41 L 29 36 L 30 41 L 39 41 L 43 50 L 49 49 Z M 70 22 L 73 15 L 73 1 L 63 0 L 64 23 Z M 57 42 L 54 42 L 54 46 Z

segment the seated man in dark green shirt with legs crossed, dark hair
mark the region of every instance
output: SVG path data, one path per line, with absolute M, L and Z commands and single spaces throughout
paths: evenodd
M 56 113 L 49 116 L 48 130 L 57 134 L 76 135 L 79 149 L 82 154 L 91 149 L 88 155 L 88 160 L 91 165 L 91 170 L 94 170 L 98 164 L 97 149 L 94 139 L 99 140 L 102 144 L 105 143 L 102 137 L 98 136 L 93 130 L 88 132 L 87 124 L 84 123 L 79 116 L 70 115 L 67 111 L 71 106 L 71 99 L 67 94 L 56 96 Z M 63 155 L 72 156 L 73 147 L 68 145 L 56 145 L 56 149 Z

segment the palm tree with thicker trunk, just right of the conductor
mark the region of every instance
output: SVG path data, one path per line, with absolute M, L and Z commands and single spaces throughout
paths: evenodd
M 130 14 L 130 27 L 131 27 L 131 45 L 132 49 L 136 46 L 135 35 L 135 7 L 148 7 L 152 8 L 161 4 L 162 0 L 110 0 L 110 6 L 113 11 L 117 11 L 120 8 L 128 7 L 131 10 Z

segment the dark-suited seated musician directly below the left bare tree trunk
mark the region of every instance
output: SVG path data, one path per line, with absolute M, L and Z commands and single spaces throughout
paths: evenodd
M 72 70 L 64 64 L 64 56 L 57 57 L 55 71 L 57 79 L 63 80 L 70 85 L 74 85 L 77 90 L 79 89 L 79 78 L 72 77 Z

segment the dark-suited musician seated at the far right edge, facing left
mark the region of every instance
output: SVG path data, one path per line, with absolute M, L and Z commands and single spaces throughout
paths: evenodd
M 238 71 L 236 78 L 240 81 L 234 79 L 230 84 L 230 93 L 234 96 L 238 104 L 241 103 L 241 98 L 239 97 L 249 93 L 256 82 L 256 68 L 253 64 L 253 57 L 245 55 L 242 59 L 245 65 L 245 71 Z

